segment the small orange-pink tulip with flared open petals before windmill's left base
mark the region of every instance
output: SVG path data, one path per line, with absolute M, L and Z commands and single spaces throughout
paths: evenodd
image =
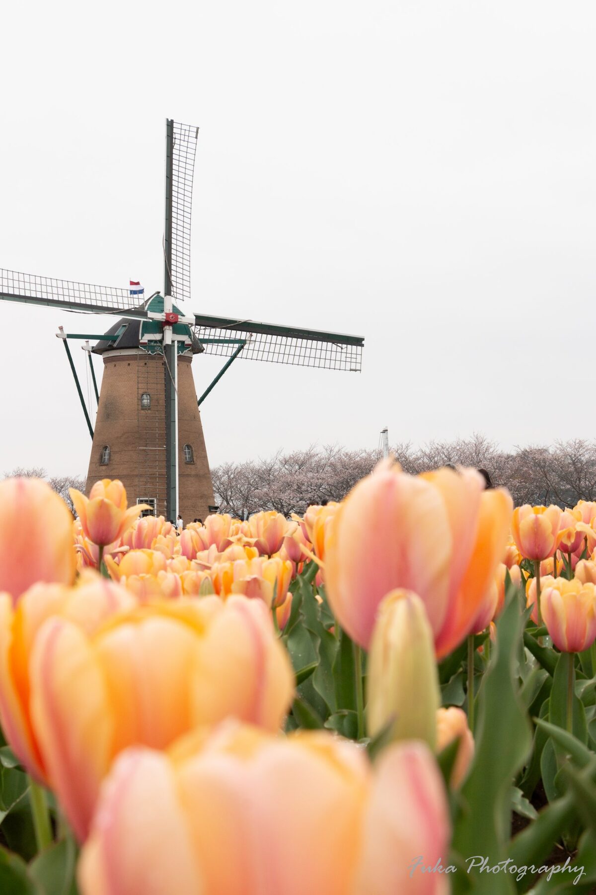
M 127 509 L 126 490 L 118 479 L 96 482 L 88 498 L 76 488 L 69 489 L 83 533 L 99 547 L 118 541 L 147 504 Z

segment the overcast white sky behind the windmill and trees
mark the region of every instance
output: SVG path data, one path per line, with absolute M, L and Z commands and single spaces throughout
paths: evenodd
M 164 119 L 198 124 L 190 310 L 365 337 L 361 375 L 234 363 L 212 465 L 385 425 L 592 438 L 595 26 L 561 0 L 9 4 L 0 267 L 161 288 Z M 0 473 L 86 473 L 54 334 L 109 321 L 1 311 Z

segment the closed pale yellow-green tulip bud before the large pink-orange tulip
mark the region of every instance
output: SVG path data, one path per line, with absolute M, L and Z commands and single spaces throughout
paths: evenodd
M 431 748 L 441 705 L 431 626 L 423 601 L 392 591 L 379 606 L 368 655 L 366 725 L 375 737 L 423 739 Z

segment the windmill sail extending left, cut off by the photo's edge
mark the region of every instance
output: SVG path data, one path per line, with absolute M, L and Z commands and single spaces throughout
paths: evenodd
M 130 289 L 118 286 L 93 286 L 72 280 L 38 277 L 0 268 L 0 299 L 71 311 L 114 314 L 126 311 L 133 317 L 147 316 L 139 310 L 139 299 L 130 297 Z

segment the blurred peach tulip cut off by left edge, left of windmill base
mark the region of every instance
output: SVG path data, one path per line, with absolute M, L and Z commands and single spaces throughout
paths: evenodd
M 76 574 L 72 516 L 40 479 L 0 482 L 0 592 L 16 602 L 38 581 L 71 584 Z

